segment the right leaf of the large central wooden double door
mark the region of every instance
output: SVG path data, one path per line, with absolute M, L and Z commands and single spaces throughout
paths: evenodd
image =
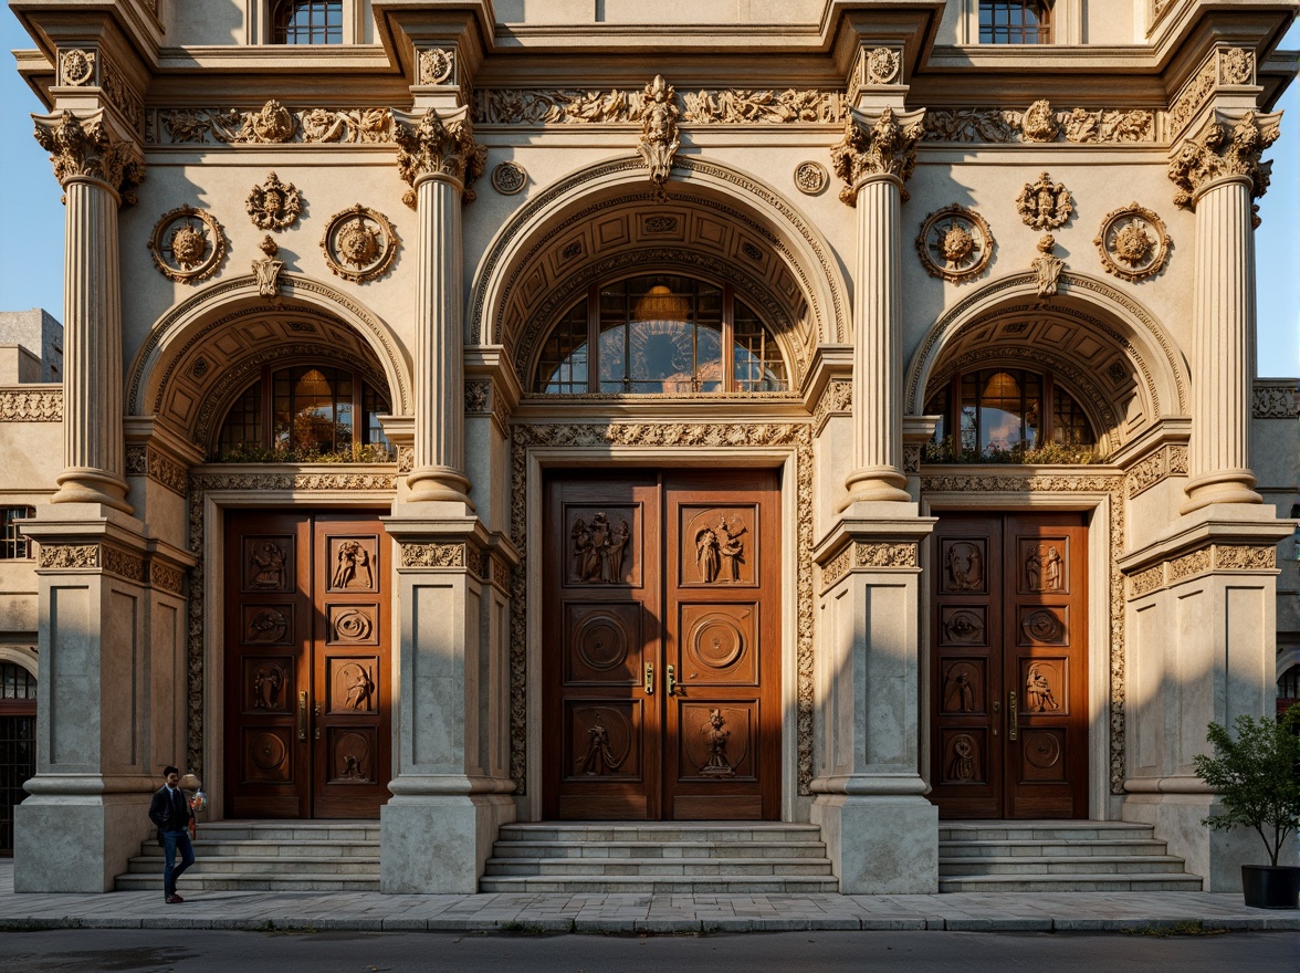
M 664 817 L 780 817 L 776 473 L 666 477 Z

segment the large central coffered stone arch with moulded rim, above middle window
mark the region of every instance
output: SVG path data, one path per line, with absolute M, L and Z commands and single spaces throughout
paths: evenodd
M 676 159 L 667 202 L 640 156 L 581 169 L 523 206 L 488 247 L 465 342 L 504 345 L 528 380 L 550 327 L 594 281 L 676 272 L 733 284 L 776 332 L 797 388 L 818 343 L 849 333 L 829 245 L 784 196 L 716 163 Z

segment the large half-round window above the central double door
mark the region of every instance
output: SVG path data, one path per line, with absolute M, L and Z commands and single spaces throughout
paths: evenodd
M 785 363 L 732 289 L 679 274 L 592 287 L 555 325 L 534 390 L 693 395 L 785 392 Z

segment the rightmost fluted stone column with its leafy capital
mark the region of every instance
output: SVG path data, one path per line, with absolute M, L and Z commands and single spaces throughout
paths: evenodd
M 1260 503 L 1249 470 L 1254 379 L 1253 198 L 1268 189 L 1260 155 L 1279 114 L 1219 113 L 1170 164 L 1179 206 L 1196 211 L 1192 434 L 1184 514 L 1210 503 Z M 1231 126 L 1231 127 L 1230 127 Z

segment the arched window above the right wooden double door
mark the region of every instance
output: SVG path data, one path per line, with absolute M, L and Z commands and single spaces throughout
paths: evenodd
M 931 394 L 926 414 L 940 416 L 935 440 L 971 455 L 1034 450 L 1049 442 L 1095 446 L 1097 434 L 1054 376 L 1026 368 L 982 368 L 957 375 Z

